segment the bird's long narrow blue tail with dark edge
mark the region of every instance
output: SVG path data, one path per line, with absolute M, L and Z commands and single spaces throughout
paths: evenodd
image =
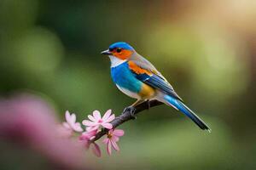
M 208 130 L 209 132 L 211 132 L 211 128 L 208 127 L 207 124 L 203 122 L 199 116 L 197 116 L 193 111 L 191 111 L 187 105 L 184 105 L 182 101 L 180 101 L 179 99 L 175 99 L 169 95 L 165 95 L 164 99 L 169 105 L 176 107 L 178 111 L 181 111 L 183 112 L 183 114 L 188 116 L 202 130 Z

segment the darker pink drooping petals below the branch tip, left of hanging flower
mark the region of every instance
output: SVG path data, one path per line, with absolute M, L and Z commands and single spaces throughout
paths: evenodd
M 91 146 L 92 152 L 94 153 L 94 155 L 100 157 L 102 155 L 102 152 L 101 152 L 99 145 L 96 144 L 95 142 L 90 143 L 90 140 L 95 138 L 96 133 L 97 133 L 97 129 L 89 131 L 89 132 L 84 132 L 79 137 L 79 139 L 83 142 L 83 144 L 87 150 L 90 148 L 90 144 L 92 144 L 92 146 Z

